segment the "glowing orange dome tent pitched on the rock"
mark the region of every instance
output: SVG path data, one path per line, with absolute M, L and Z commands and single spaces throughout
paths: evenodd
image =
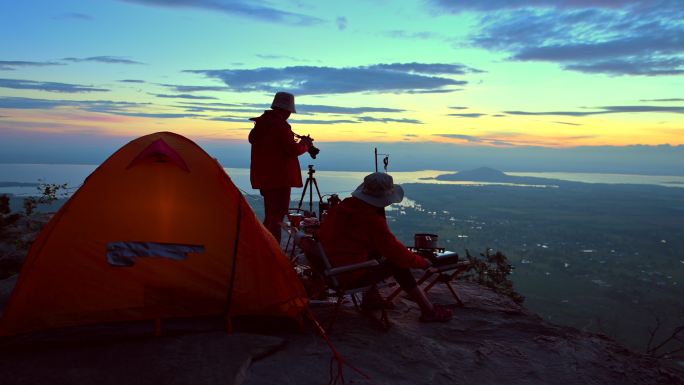
M 306 293 L 220 164 L 189 139 L 131 141 L 34 242 L 0 335 L 194 316 L 297 317 Z

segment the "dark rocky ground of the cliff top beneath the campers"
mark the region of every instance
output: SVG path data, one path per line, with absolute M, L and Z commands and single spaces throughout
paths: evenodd
M 47 216 L 3 227 L 0 264 L 10 274 Z M 14 240 L 14 241 L 13 241 Z M 17 242 L 16 240 L 19 240 Z M 14 267 L 12 267 L 14 266 Z M 17 276 L 0 280 L 0 312 Z M 380 331 L 344 306 L 330 339 L 354 367 L 348 384 L 684 384 L 671 362 L 658 361 L 601 335 L 546 322 L 508 297 L 481 286 L 456 285 L 465 306 L 447 323 L 418 321 L 406 298 L 389 310 Z M 453 304 L 445 287 L 430 297 Z M 330 306 L 315 306 L 325 321 Z M 0 384 L 325 384 L 332 353 L 311 323 L 303 330 L 228 334 L 221 324 L 170 328 L 149 324 L 72 329 L 0 339 Z M 333 366 L 334 368 L 334 366 Z

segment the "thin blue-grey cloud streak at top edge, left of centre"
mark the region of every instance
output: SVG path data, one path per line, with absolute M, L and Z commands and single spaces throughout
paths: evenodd
M 300 13 L 281 11 L 263 5 L 263 2 L 247 0 L 120 0 L 129 3 L 137 3 L 156 7 L 169 8 L 197 8 L 209 11 L 222 12 L 229 15 L 247 17 L 271 23 L 283 23 L 294 25 L 316 25 L 323 22 L 317 17 Z

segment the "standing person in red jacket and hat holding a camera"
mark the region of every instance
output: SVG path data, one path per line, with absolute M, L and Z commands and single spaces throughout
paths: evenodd
M 312 143 L 303 138 L 295 141 L 287 119 L 296 113 L 294 95 L 278 92 L 271 109 L 252 118 L 254 128 L 249 133 L 252 144 L 250 181 L 264 197 L 264 226 L 280 243 L 280 225 L 290 206 L 290 189 L 302 187 L 299 155 Z

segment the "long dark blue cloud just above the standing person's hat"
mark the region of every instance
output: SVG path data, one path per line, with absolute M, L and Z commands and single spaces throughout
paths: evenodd
M 223 81 L 237 92 L 289 90 L 296 95 L 355 92 L 444 91 L 467 82 L 437 74 L 454 75 L 478 71 L 460 64 L 393 63 L 363 67 L 294 66 L 285 68 L 186 70 Z

